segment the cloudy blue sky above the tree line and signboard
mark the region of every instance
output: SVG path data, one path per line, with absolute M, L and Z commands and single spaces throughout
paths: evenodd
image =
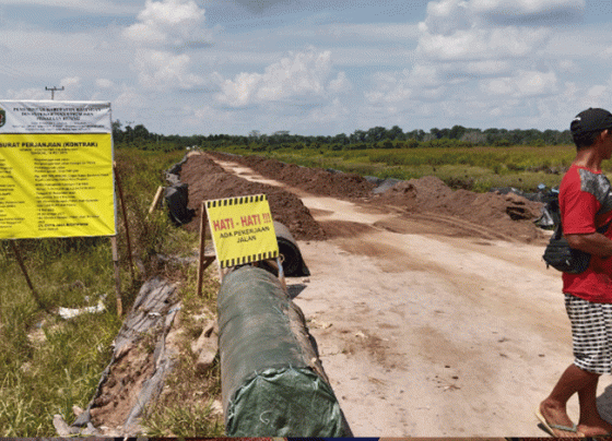
M 1 0 L 0 99 L 168 135 L 566 130 L 612 110 L 611 22 L 610 0 Z

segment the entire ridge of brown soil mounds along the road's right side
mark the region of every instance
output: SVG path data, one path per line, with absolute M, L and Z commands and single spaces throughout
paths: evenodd
M 367 199 L 370 202 L 399 207 L 407 215 L 452 216 L 487 228 L 495 237 L 525 242 L 545 238 L 544 231 L 534 225 L 534 222 L 542 216 L 543 204 L 514 193 L 452 190 L 442 179 L 426 176 L 400 181 L 387 191 L 374 194 L 373 190 L 376 186 L 354 174 L 299 167 L 256 155 L 238 156 L 220 152 L 208 154 L 222 160 L 238 163 L 261 176 L 316 195 L 349 200 Z M 498 235 L 495 235 L 495 231 L 498 231 Z

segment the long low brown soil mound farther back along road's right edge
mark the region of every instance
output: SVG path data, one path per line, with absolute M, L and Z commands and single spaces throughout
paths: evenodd
M 284 182 L 309 193 L 341 199 L 367 198 L 376 187 L 356 174 L 344 174 L 285 164 L 262 156 L 228 155 L 221 152 L 210 152 L 211 156 L 238 163 L 257 171 L 267 178 Z

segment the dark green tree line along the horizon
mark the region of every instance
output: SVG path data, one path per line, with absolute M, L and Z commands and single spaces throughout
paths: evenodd
M 232 134 L 193 134 L 164 135 L 150 132 L 143 124 L 125 126 L 113 122 L 113 139 L 117 146 L 134 145 L 143 150 L 170 151 L 185 147 L 221 148 L 229 145 L 245 146 L 254 152 L 274 148 L 416 148 L 416 147 L 471 147 L 479 145 L 570 145 L 569 130 L 538 129 L 472 129 L 454 126 L 450 129 L 433 128 L 428 132 L 412 130 L 404 132 L 399 126 L 390 129 L 374 127 L 368 130 L 355 130 L 351 134 L 337 135 L 299 135 L 289 131 L 271 134 L 252 130 L 248 135 Z

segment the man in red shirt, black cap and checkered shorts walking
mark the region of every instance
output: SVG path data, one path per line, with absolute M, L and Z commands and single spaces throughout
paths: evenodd
M 612 373 L 612 188 L 601 164 L 612 156 L 612 114 L 589 108 L 570 124 L 576 157 L 560 186 L 563 234 L 569 246 L 591 254 L 587 271 L 563 273 L 563 293 L 569 321 L 574 362 L 537 416 L 554 437 L 595 437 L 612 433 L 612 425 L 597 409 L 597 385 Z M 578 393 L 580 416 L 574 424 L 566 412 Z

